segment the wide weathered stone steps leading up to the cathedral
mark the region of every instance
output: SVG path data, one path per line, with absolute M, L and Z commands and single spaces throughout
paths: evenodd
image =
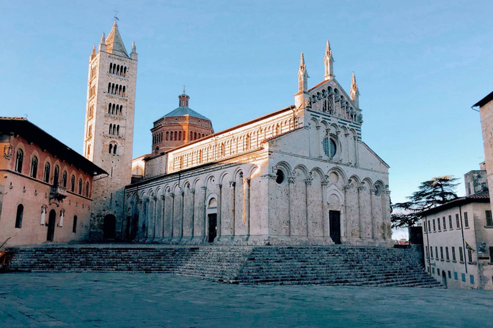
M 441 286 L 410 249 L 79 244 L 9 250 L 15 252 L 11 271 L 165 272 L 236 284 Z

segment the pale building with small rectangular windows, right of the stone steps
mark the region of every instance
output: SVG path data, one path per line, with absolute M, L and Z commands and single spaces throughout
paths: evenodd
M 421 213 L 426 271 L 448 288 L 493 289 L 493 219 L 486 171 L 464 175 L 466 195 Z

